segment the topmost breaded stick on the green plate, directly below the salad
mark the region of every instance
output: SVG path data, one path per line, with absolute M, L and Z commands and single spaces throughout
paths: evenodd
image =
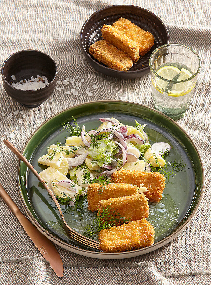
M 144 171 L 116 171 L 111 176 L 112 182 L 122 182 L 132 185 L 144 184 L 147 192 L 144 192 L 150 202 L 159 202 L 162 198 L 165 188 L 165 177 L 159 172 L 144 172 Z

